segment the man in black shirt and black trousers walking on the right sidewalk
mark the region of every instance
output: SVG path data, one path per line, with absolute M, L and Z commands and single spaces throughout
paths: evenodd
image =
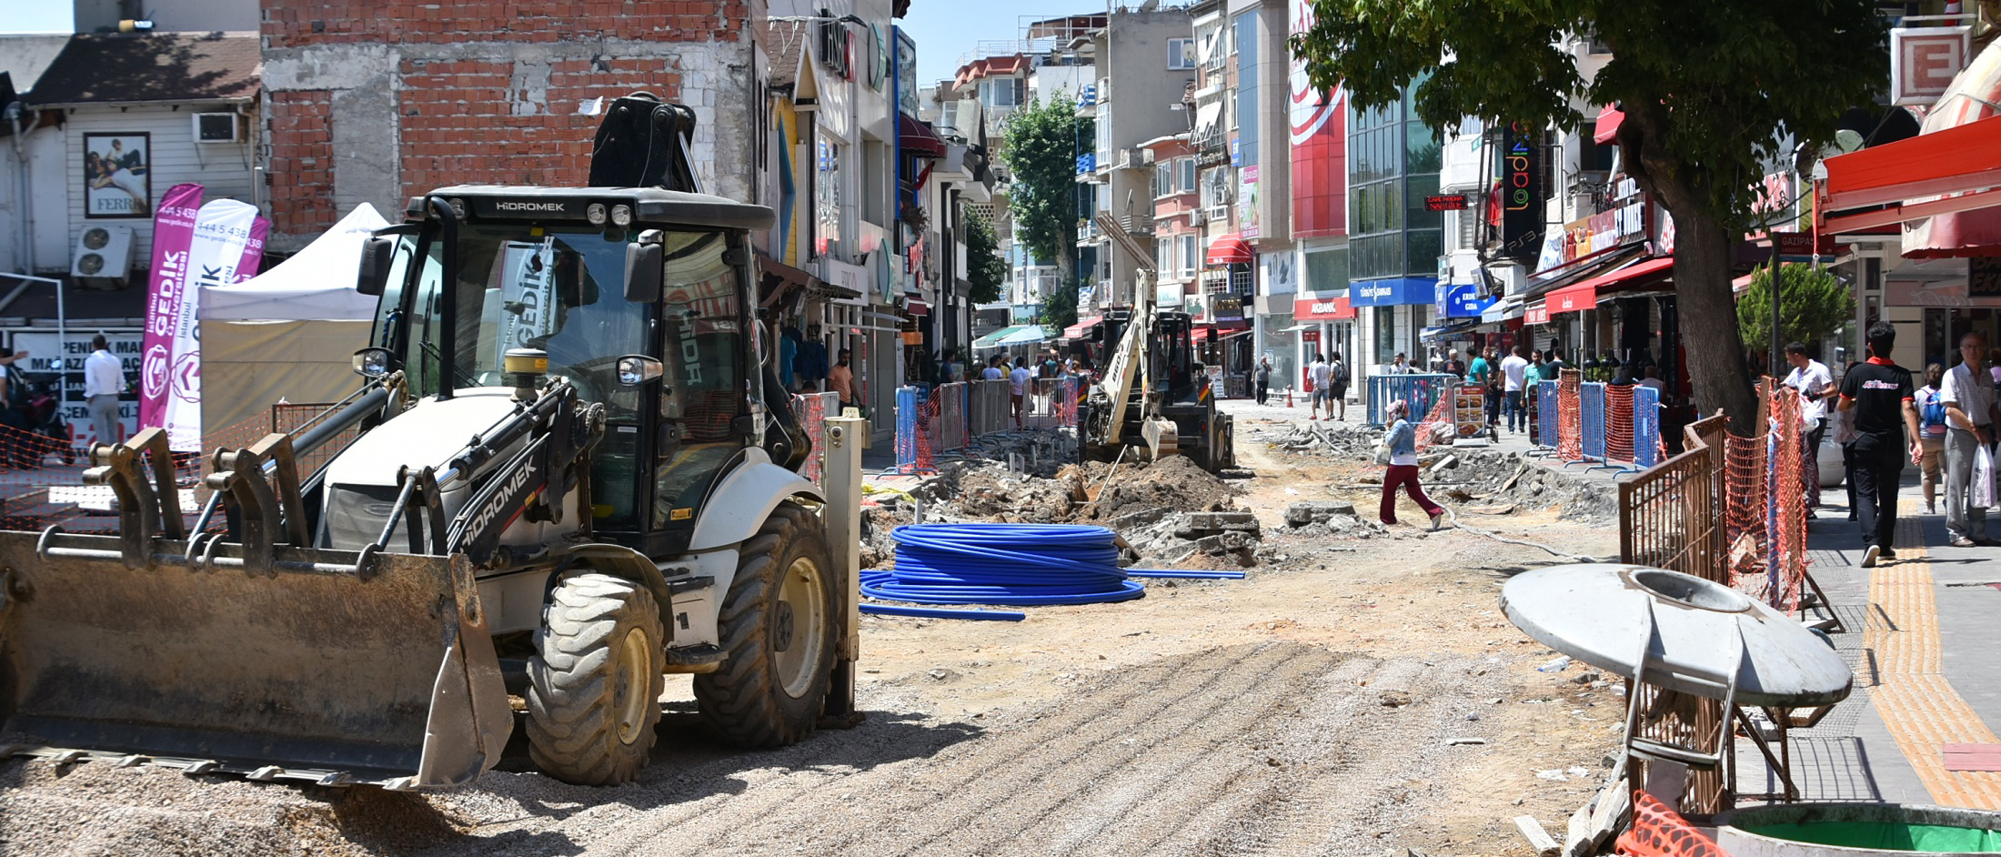
M 1891 535 L 1897 531 L 1897 481 L 1903 463 L 1913 465 L 1925 447 L 1917 435 L 1917 404 L 1911 370 L 1891 362 L 1897 328 L 1869 324 L 1869 362 L 1841 378 L 1841 410 L 1855 420 L 1855 505 L 1863 525 L 1863 569 L 1877 557 L 1897 559 Z M 1909 435 L 1905 435 L 1909 428 Z

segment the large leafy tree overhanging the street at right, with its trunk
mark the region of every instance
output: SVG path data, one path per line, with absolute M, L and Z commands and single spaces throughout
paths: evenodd
M 1831 140 L 1841 112 L 1883 88 L 1885 22 L 1873 0 L 1313 0 L 1293 52 L 1315 86 L 1345 84 L 1359 108 L 1415 84 L 1433 128 L 1463 116 L 1577 126 L 1573 98 L 1619 104 L 1629 176 L 1675 216 L 1675 292 L 1705 408 L 1749 431 L 1757 402 L 1731 300 L 1731 246 L 1755 222 L 1753 182 L 1787 156 L 1781 132 Z M 1611 48 L 1587 84 L 1565 44 Z

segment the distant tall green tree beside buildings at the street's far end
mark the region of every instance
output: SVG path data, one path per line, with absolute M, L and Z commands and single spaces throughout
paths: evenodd
M 1015 236 L 1031 256 L 1057 264 L 1057 282 L 1071 282 L 1077 270 L 1077 156 L 1079 140 L 1089 138 L 1091 120 L 1077 116 L 1061 90 L 1015 110 L 1003 132 Z

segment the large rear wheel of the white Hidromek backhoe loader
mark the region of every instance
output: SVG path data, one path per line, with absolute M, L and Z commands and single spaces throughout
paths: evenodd
M 834 667 L 834 591 L 826 533 L 790 503 L 742 545 L 716 621 L 728 655 L 694 677 L 702 719 L 740 747 L 784 747 L 812 733 Z

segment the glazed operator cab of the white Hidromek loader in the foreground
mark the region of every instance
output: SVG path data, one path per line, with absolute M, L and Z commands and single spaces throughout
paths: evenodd
M 764 206 L 660 188 L 442 188 L 382 234 L 396 246 L 374 344 L 418 406 L 512 388 L 504 354 L 548 352 L 550 376 L 606 408 L 588 475 L 596 537 L 676 553 L 704 495 L 762 441 L 748 232 L 770 222 Z M 634 354 L 658 376 L 620 378 Z

